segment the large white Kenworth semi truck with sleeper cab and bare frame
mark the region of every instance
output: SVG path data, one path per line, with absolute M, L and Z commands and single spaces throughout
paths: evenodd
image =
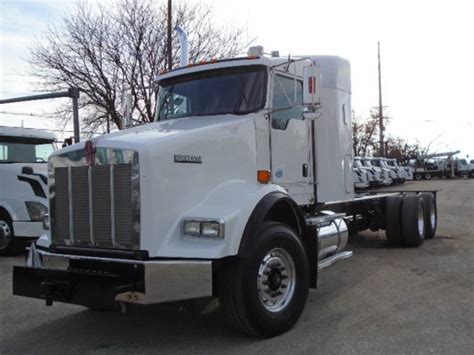
M 156 122 L 53 154 L 50 230 L 14 267 L 15 295 L 217 297 L 233 326 L 271 337 L 352 255 L 349 233 L 434 237 L 435 193 L 354 194 L 349 62 L 253 54 L 164 73 Z

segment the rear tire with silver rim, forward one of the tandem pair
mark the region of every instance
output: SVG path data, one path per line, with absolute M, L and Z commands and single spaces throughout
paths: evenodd
M 408 247 L 419 247 L 426 234 L 423 199 L 419 195 L 406 195 L 402 208 L 403 244 Z

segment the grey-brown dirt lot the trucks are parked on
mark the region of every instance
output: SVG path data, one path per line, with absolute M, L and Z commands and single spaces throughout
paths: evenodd
M 11 296 L 0 259 L 0 354 L 8 353 L 474 353 L 474 179 L 412 182 L 440 189 L 438 237 L 418 249 L 388 247 L 384 233 L 353 238 L 352 259 L 320 275 L 287 334 L 258 340 L 223 326 L 219 312 L 174 306 L 127 314 Z

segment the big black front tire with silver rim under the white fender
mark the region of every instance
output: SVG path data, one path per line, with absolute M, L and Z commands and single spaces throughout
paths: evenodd
M 289 330 L 303 312 L 309 266 L 297 234 L 285 224 L 265 222 L 246 257 L 226 260 L 218 293 L 231 326 L 256 336 Z

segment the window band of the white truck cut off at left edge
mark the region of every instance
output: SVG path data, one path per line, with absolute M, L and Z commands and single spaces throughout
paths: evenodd
M 51 141 L 0 137 L 0 164 L 45 163 L 54 150 Z

